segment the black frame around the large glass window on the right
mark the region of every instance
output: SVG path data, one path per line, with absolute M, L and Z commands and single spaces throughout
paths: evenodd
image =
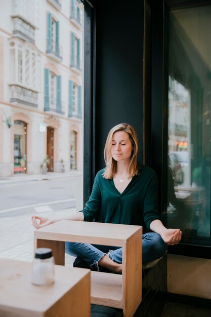
M 211 4 L 211 1 L 165 0 L 151 2 L 152 15 L 152 72 L 151 72 L 151 166 L 159 180 L 159 210 L 167 203 L 167 133 L 168 133 L 168 19 L 171 8 Z M 211 223 L 210 223 L 211 227 Z M 211 259 L 209 246 L 180 243 L 170 246 L 168 253 Z

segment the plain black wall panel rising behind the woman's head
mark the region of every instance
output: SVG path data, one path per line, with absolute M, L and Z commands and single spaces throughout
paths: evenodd
M 143 1 L 96 4 L 95 174 L 105 166 L 108 131 L 122 122 L 137 130 L 142 162 L 143 22 Z

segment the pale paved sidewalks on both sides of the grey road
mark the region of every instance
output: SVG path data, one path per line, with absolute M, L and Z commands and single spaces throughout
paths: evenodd
M 81 172 L 70 173 L 47 173 L 40 175 L 15 175 L 0 179 L 1 186 L 8 184 L 18 184 L 21 182 L 29 182 L 33 180 L 46 180 L 63 177 L 81 177 Z M 76 208 L 67 208 L 59 211 L 41 212 L 42 216 L 52 217 L 55 215 L 67 216 L 75 213 Z M 34 228 L 31 224 L 31 214 L 26 215 L 10 215 L 4 213 L 0 218 L 0 258 L 1 259 L 14 259 L 31 262 L 33 260 L 33 232 Z M 65 265 L 72 265 L 74 258 L 65 255 Z

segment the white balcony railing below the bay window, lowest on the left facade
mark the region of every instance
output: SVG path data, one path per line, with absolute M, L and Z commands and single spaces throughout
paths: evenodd
M 17 85 L 11 86 L 10 102 L 19 102 L 28 106 L 37 107 L 37 92 Z

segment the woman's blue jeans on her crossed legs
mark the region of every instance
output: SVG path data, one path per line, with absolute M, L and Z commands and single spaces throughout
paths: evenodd
M 155 232 L 148 232 L 142 236 L 142 264 L 159 259 L 167 251 L 167 245 L 161 236 Z M 98 263 L 105 254 L 117 263 L 122 263 L 122 248 L 88 243 L 65 242 L 65 252 L 86 261 L 92 267 Z

